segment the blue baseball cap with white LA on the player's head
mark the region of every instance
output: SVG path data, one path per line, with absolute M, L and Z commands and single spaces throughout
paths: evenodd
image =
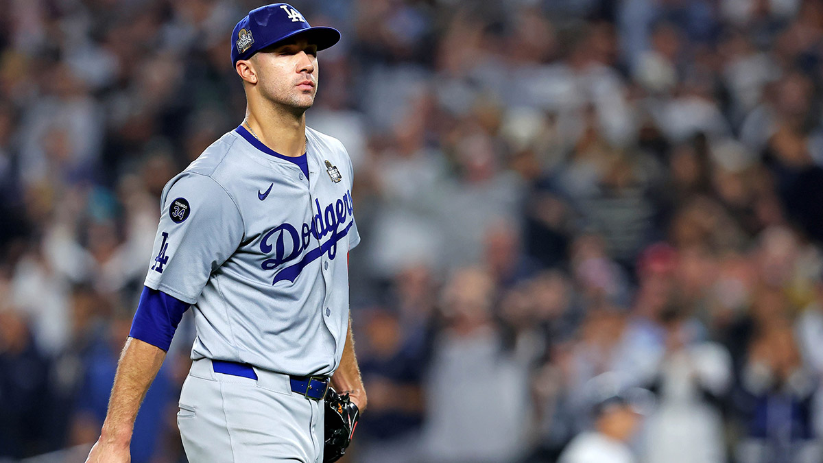
M 328 49 L 340 40 L 333 27 L 309 26 L 309 21 L 288 3 L 272 3 L 254 8 L 231 32 L 231 63 L 249 59 L 272 44 L 301 35 L 318 50 Z

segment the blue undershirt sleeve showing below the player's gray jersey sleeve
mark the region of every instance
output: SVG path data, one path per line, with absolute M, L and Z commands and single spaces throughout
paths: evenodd
M 143 287 L 128 335 L 168 352 L 174 331 L 187 309 L 188 303 L 165 292 Z

